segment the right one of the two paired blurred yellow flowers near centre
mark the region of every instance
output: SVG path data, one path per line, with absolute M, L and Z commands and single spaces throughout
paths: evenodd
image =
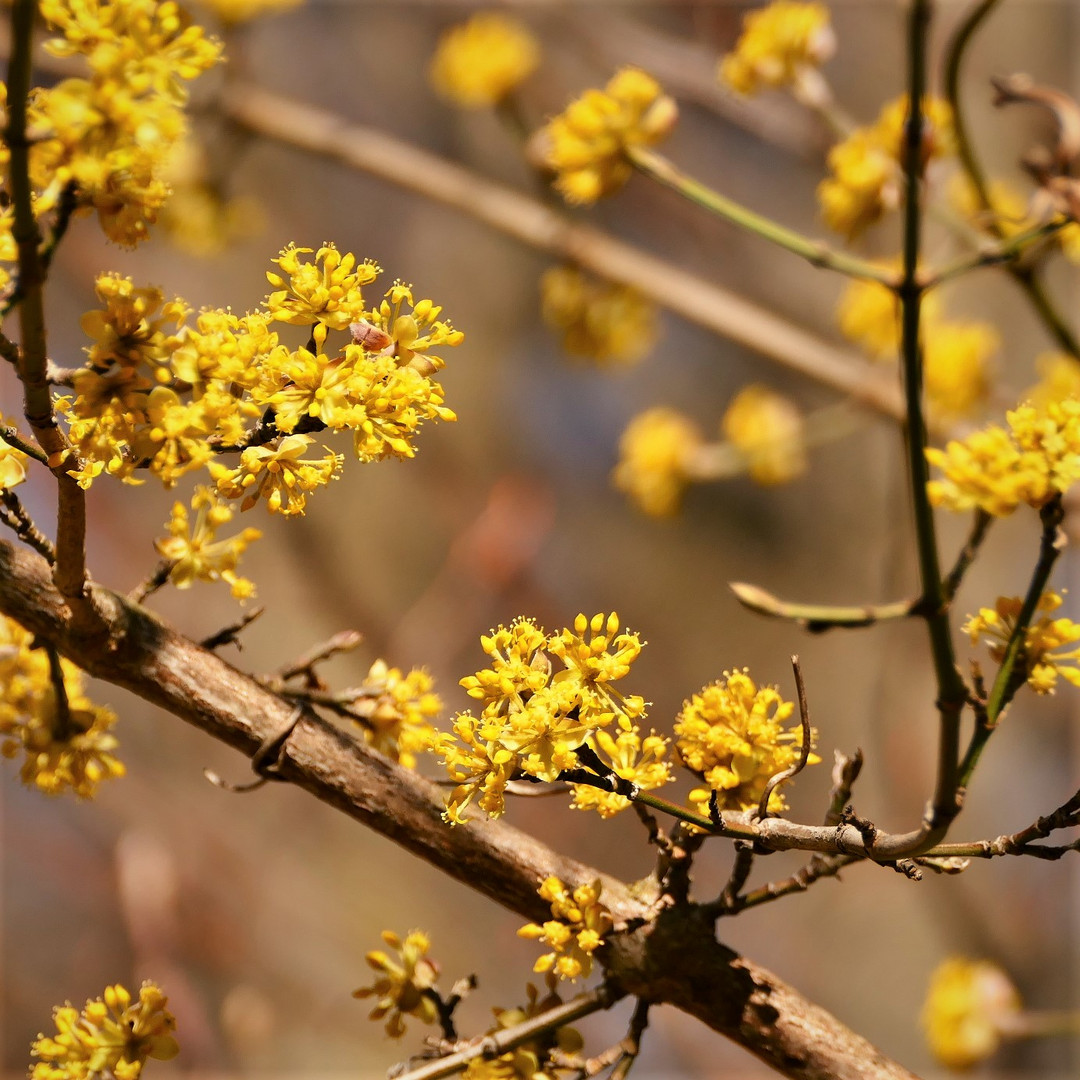
M 728 405 L 720 430 L 758 484 L 786 484 L 806 472 L 802 417 L 792 402 L 766 387 L 743 387 Z

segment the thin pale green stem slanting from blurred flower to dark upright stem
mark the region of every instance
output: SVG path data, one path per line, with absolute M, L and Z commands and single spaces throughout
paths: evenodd
M 646 176 L 651 177 L 659 184 L 677 191 L 684 199 L 696 203 L 711 214 L 738 225 L 741 229 L 746 229 L 764 240 L 785 248 L 795 255 L 812 262 L 815 267 L 825 267 L 828 270 L 836 270 L 847 274 L 849 278 L 862 278 L 866 281 L 876 281 L 890 288 L 896 284 L 896 276 L 891 270 L 861 259 L 855 255 L 848 255 L 845 252 L 837 252 L 828 245 L 810 240 L 796 232 L 794 229 L 785 228 L 773 221 L 771 218 L 747 210 L 727 195 L 721 195 L 718 191 L 706 187 L 699 180 L 679 172 L 666 158 L 653 150 L 644 147 L 627 147 L 626 157 L 631 163 Z

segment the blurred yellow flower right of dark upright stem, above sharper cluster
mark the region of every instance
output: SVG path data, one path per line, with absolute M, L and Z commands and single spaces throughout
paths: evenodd
M 970 416 L 989 389 L 989 361 L 1001 339 L 989 323 L 940 321 L 926 326 L 922 375 L 927 400 L 937 416 Z

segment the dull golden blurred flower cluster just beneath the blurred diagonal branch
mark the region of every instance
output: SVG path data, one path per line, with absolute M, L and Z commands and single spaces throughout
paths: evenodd
M 656 306 L 636 288 L 588 279 L 577 267 L 553 267 L 540 279 L 544 322 L 571 356 L 602 366 L 640 360 L 657 338 Z

